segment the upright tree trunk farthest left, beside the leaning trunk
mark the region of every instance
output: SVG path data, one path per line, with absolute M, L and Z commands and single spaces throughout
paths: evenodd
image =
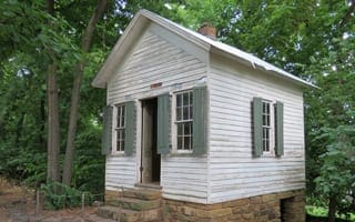
M 54 16 L 54 0 L 47 0 L 48 13 Z M 60 131 L 59 131 L 59 100 L 57 85 L 57 59 L 53 50 L 49 49 L 52 63 L 48 67 L 47 97 L 48 97 L 48 164 L 47 182 L 60 181 L 59 153 L 60 153 Z

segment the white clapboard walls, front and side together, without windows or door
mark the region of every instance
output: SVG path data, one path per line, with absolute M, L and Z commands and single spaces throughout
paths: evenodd
M 270 192 L 303 189 L 304 125 L 302 90 L 260 70 L 211 56 L 176 34 L 152 24 L 132 43 L 124 65 L 109 80 L 108 103 L 135 100 L 136 154 L 106 158 L 106 190 L 132 188 L 139 182 L 141 149 L 140 100 L 175 90 L 192 89 L 207 77 L 209 153 L 204 158 L 162 157 L 163 196 L 216 203 Z M 211 60 L 211 67 L 207 65 Z M 118 61 L 123 62 L 123 61 Z M 153 83 L 162 82 L 159 89 Z M 251 101 L 253 97 L 284 103 L 284 155 L 252 157 Z

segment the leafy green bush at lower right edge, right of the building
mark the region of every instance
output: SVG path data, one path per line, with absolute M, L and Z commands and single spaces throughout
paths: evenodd
M 324 128 L 315 140 L 326 144 L 325 153 L 320 157 L 316 192 L 326 202 L 334 198 L 339 213 L 355 212 L 355 128 Z

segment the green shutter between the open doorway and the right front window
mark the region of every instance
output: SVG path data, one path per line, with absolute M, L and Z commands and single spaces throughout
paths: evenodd
M 169 93 L 158 97 L 158 153 L 166 154 L 170 151 L 170 95 Z

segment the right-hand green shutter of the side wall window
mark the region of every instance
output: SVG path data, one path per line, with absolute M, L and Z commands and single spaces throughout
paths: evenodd
M 275 153 L 281 157 L 284 154 L 284 104 L 282 102 L 276 102 L 275 112 Z

